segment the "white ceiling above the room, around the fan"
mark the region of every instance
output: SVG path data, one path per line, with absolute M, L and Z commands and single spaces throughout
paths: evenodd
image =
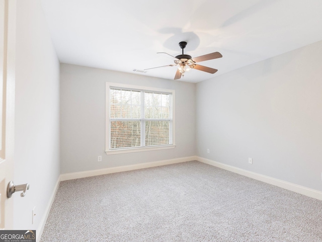
M 322 40 L 321 0 L 42 0 L 60 62 L 173 79 L 171 55 L 220 52 L 197 83 Z M 322 54 L 322 53 L 321 53 Z M 169 58 L 170 57 L 170 58 Z

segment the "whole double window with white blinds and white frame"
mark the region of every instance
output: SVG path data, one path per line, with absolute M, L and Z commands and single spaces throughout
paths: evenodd
M 174 90 L 106 84 L 106 152 L 174 148 Z

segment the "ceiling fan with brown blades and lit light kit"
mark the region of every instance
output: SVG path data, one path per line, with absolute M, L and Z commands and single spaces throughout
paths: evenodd
M 192 58 L 190 55 L 185 55 L 183 53 L 183 49 L 186 48 L 187 42 L 182 41 L 179 43 L 180 48 L 182 49 L 182 54 L 181 55 L 177 55 L 172 56 L 166 52 L 157 52 L 157 54 L 167 54 L 170 55 L 172 57 L 175 58 L 174 62 L 175 64 L 171 64 L 171 65 L 163 65 L 163 66 L 157 66 L 157 67 L 152 67 L 152 68 L 147 68 L 144 70 L 149 70 L 149 69 L 154 69 L 154 68 L 160 68 L 160 67 L 167 67 L 167 66 L 178 66 L 176 75 L 175 75 L 175 80 L 180 79 L 181 76 L 185 75 L 185 72 L 188 71 L 189 69 L 197 69 L 197 70 L 201 70 L 201 71 L 205 71 L 208 73 L 215 73 L 217 71 L 217 69 L 214 68 L 210 68 L 207 66 L 203 66 L 203 65 L 198 65 L 196 64 L 197 62 L 201 62 L 201 61 L 205 61 L 205 60 L 212 60 L 212 59 L 217 59 L 217 58 L 221 58 L 222 55 L 219 52 L 214 52 L 214 53 L 210 53 L 210 54 L 206 54 L 206 55 L 201 55 L 195 58 Z

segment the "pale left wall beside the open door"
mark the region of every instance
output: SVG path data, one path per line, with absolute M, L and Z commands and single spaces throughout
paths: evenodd
M 14 229 L 38 229 L 59 177 L 59 62 L 39 0 L 17 1 Z M 32 209 L 36 206 L 35 223 Z

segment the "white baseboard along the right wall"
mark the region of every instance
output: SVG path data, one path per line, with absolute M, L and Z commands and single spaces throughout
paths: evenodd
M 211 159 L 207 159 L 207 158 L 203 158 L 200 156 L 196 157 L 196 160 L 198 160 L 199 162 L 214 166 L 214 167 L 218 167 L 233 173 L 237 173 L 246 177 L 250 177 L 253 178 L 255 180 L 261 181 L 261 182 L 265 182 L 277 187 L 281 187 L 287 190 L 290 190 L 292 192 L 296 192 L 296 193 L 300 193 L 302 195 L 308 196 L 308 197 L 312 197 L 318 200 L 322 200 L 322 192 L 317 191 L 317 190 L 313 190 L 307 187 L 302 187 L 293 183 L 289 183 L 289 182 L 285 182 L 282 180 L 278 180 L 272 177 L 268 177 L 268 176 L 264 176 L 255 172 L 250 172 L 244 169 L 240 169 L 240 168 L 236 168 L 233 166 L 229 166 L 229 165 L 225 165 L 223 163 L 220 162 L 214 162 Z

